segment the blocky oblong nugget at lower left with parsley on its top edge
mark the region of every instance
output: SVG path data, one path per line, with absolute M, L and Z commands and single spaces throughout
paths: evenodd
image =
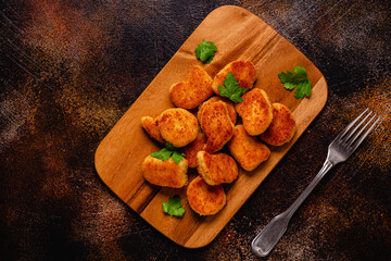
M 141 171 L 147 182 L 162 187 L 180 188 L 188 183 L 188 161 L 181 160 L 179 164 L 172 158 L 162 161 L 161 159 L 148 156 L 142 162 Z

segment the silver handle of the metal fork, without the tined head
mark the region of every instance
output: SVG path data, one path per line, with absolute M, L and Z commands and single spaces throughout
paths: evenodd
M 279 241 L 288 227 L 288 223 L 297 209 L 302 204 L 305 198 L 311 194 L 315 186 L 320 182 L 325 174 L 331 170 L 335 164 L 326 160 L 323 167 L 316 174 L 314 179 L 298 197 L 298 199 L 281 214 L 275 216 L 265 228 L 253 239 L 251 247 L 257 257 L 266 257 Z

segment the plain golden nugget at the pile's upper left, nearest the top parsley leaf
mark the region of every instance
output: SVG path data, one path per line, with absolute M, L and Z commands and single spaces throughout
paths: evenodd
M 197 65 L 184 82 L 169 87 L 169 98 L 176 107 L 193 109 L 213 95 L 212 83 L 207 72 Z

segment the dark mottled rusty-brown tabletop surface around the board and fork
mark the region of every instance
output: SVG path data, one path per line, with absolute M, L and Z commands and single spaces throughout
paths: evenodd
M 99 179 L 100 140 L 215 8 L 240 5 L 325 75 L 325 109 L 216 239 L 185 249 Z M 256 260 L 256 233 L 299 196 L 369 107 L 382 124 L 293 216 L 269 260 L 390 260 L 389 0 L 1 1 L 0 260 Z

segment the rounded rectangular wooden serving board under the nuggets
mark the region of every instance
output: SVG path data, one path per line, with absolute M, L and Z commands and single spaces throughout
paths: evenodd
M 215 42 L 218 48 L 210 64 L 202 64 L 194 55 L 195 47 L 203 39 Z M 213 216 L 200 216 L 188 206 L 186 187 L 161 188 L 143 179 L 141 163 L 160 147 L 143 132 L 140 119 L 146 115 L 157 116 L 173 108 L 168 88 L 185 79 L 192 66 L 202 65 L 214 77 L 234 60 L 250 60 L 255 64 L 258 73 L 255 88 L 263 88 L 272 102 L 286 104 L 293 112 L 298 129 L 292 141 L 270 148 L 272 154 L 266 162 L 252 172 L 241 170 L 237 181 L 224 186 L 227 204 L 220 212 Z M 295 65 L 307 70 L 313 83 L 310 99 L 295 99 L 293 91 L 286 90 L 279 82 L 278 73 L 292 71 Z M 96 152 L 96 169 L 102 181 L 153 227 L 181 246 L 199 248 L 216 237 L 303 134 L 326 100 L 325 77 L 294 46 L 249 11 L 238 7 L 222 7 L 205 17 L 102 140 Z M 189 179 L 195 176 L 197 171 L 190 170 Z M 161 210 L 162 202 L 177 194 L 187 210 L 181 219 L 165 215 Z

